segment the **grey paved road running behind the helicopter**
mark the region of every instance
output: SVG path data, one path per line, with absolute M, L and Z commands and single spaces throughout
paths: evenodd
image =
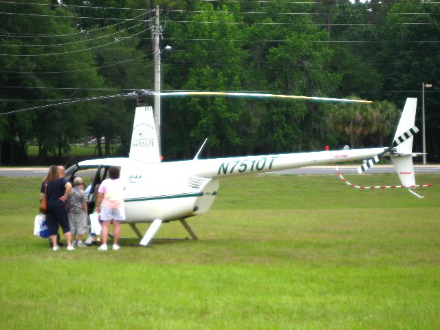
M 339 166 L 342 174 L 358 174 L 358 166 Z M 440 165 L 415 165 L 415 174 L 437 173 L 440 174 Z M 0 177 L 44 177 L 47 168 L 0 168 Z M 377 165 L 366 171 L 370 174 L 395 173 L 392 165 Z M 93 171 L 90 172 L 90 175 Z M 331 175 L 336 174 L 335 166 L 309 166 L 294 168 L 291 170 L 280 170 L 276 172 L 264 173 L 267 175 Z

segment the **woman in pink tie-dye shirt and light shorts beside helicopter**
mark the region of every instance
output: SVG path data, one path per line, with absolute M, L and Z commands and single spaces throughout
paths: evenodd
M 96 212 L 101 214 L 102 245 L 100 251 L 107 251 L 107 234 L 110 221 L 113 220 L 113 250 L 119 250 L 118 239 L 121 221 L 125 220 L 124 193 L 125 184 L 120 179 L 120 167 L 110 166 L 109 179 L 102 181 L 96 199 Z

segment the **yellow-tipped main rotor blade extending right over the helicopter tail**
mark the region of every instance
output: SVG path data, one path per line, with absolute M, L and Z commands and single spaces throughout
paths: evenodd
M 153 92 L 153 95 L 159 96 L 243 96 L 251 98 L 294 98 L 299 100 L 315 100 L 315 101 L 328 101 L 328 102 L 358 102 L 358 103 L 373 103 L 373 101 L 367 100 L 351 100 L 347 98 L 320 98 L 317 96 L 295 96 L 295 95 L 283 95 L 283 94 L 261 94 L 261 93 L 245 93 L 236 91 L 165 91 L 165 92 Z

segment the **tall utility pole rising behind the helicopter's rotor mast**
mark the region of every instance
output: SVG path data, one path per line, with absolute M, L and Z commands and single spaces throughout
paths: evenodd
M 162 29 L 159 25 L 159 6 L 156 6 L 156 19 L 153 27 L 154 39 L 154 125 L 157 135 L 157 147 L 159 148 L 159 156 L 162 156 L 162 143 L 160 140 L 160 49 L 159 36 L 162 34 Z

